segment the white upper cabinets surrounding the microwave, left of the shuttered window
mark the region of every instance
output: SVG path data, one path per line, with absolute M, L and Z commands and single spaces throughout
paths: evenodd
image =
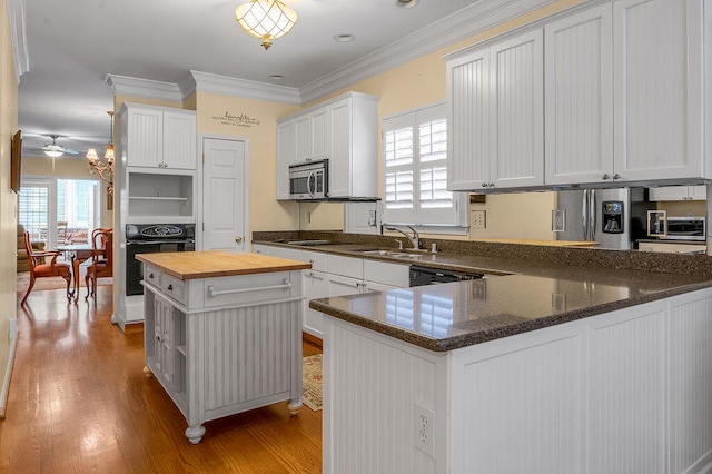
M 277 199 L 289 198 L 289 165 L 328 159 L 332 198 L 378 196 L 378 98 L 358 92 L 277 122 Z

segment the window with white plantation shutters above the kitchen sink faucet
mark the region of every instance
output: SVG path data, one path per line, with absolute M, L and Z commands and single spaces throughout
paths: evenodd
M 447 190 L 446 112 L 437 103 L 384 119 L 384 223 L 465 227 L 467 194 Z

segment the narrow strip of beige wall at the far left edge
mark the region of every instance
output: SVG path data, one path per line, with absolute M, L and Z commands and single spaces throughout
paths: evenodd
M 10 189 L 10 142 L 18 129 L 18 81 L 6 1 L 0 7 L 0 386 L 10 357 L 8 324 L 17 316 L 17 196 Z M 4 416 L 4 406 L 0 416 Z

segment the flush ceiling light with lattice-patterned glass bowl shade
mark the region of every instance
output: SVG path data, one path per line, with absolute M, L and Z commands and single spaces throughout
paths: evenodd
M 235 10 L 237 22 L 251 37 L 261 39 L 269 49 L 271 40 L 281 38 L 297 22 L 297 13 L 279 0 L 251 0 Z

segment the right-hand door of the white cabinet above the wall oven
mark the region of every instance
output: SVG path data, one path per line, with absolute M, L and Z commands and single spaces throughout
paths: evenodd
M 196 169 L 196 115 L 164 111 L 164 168 Z

